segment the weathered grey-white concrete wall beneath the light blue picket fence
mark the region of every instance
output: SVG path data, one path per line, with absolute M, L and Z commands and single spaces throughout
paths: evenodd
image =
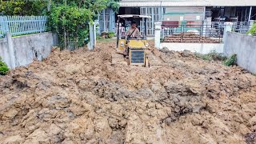
M 57 44 L 57 34 L 30 34 L 11 38 L 11 41 L 14 49 L 14 67 L 26 66 L 33 62 L 34 58 L 41 61 L 50 54 L 51 47 Z M 0 39 L 0 56 L 7 66 L 11 67 L 7 38 Z

